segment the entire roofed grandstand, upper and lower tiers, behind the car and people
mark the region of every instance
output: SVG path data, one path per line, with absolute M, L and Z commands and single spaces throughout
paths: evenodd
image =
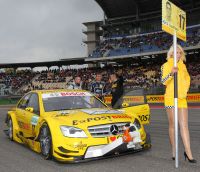
M 161 1 L 96 2 L 105 12 L 105 18 L 102 21 L 83 23 L 87 27 L 83 30 L 87 39 L 83 41 L 88 46 L 88 57 L 53 62 L 1 64 L 1 69 L 13 68 L 13 71 L 0 73 L 0 94 L 17 95 L 32 89 L 66 88 L 75 75 L 80 75 L 84 89 L 89 89 L 97 72 L 103 74 L 109 92 L 108 76 L 112 71 L 123 73 L 126 89 L 144 88 L 149 94 L 163 94 L 160 66 L 172 44 L 172 36 L 161 31 Z M 179 43 L 187 52 L 187 65 L 192 79 L 190 92 L 200 92 L 200 2 L 172 2 L 187 11 L 187 42 Z M 63 68 L 73 64 L 88 64 L 88 67 Z M 42 66 L 46 66 L 47 70 L 33 72 L 33 68 Z M 50 70 L 51 66 L 58 66 L 58 69 Z M 19 71 L 19 67 L 30 69 Z

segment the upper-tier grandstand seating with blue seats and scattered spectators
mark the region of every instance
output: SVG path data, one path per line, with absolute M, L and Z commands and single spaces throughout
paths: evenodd
M 196 46 L 200 44 L 200 26 L 187 29 L 187 43 L 178 42 L 183 47 Z M 100 45 L 89 57 L 111 57 L 145 52 L 167 50 L 172 44 L 172 36 L 164 32 L 154 32 L 137 36 L 104 38 Z

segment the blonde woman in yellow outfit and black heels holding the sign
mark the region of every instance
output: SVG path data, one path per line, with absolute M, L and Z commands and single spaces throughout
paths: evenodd
M 190 87 L 190 76 L 183 62 L 186 62 L 185 53 L 180 45 L 177 45 L 177 67 L 174 67 L 173 46 L 168 51 L 167 62 L 162 65 L 161 82 L 166 86 L 164 104 L 169 121 L 169 139 L 172 146 L 172 159 L 175 160 L 175 134 L 174 134 L 174 73 L 178 73 L 178 121 L 181 138 L 185 147 L 185 160 L 196 163 L 190 148 L 190 135 L 188 129 L 187 92 Z

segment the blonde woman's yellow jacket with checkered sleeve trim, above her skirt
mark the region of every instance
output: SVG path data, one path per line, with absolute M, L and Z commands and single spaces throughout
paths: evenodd
M 174 78 L 171 76 L 171 70 L 174 66 L 174 59 L 170 58 L 161 66 L 161 82 L 166 86 L 165 97 L 174 97 Z M 178 66 L 178 98 L 184 99 L 187 97 L 187 92 L 190 88 L 190 76 L 187 68 L 182 60 L 177 63 Z

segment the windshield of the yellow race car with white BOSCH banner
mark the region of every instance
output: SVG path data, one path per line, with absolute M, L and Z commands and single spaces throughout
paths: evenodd
M 42 94 L 44 110 L 60 111 L 87 108 L 106 108 L 101 101 L 88 92 L 56 92 Z

